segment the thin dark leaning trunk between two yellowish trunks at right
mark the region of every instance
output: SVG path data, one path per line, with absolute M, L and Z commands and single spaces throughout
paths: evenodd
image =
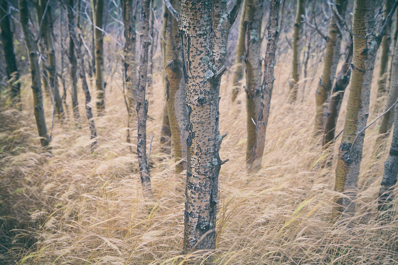
M 328 146 L 334 141 L 337 120 L 340 113 L 341 103 L 343 102 L 345 88 L 347 88 L 351 77 L 351 61 L 353 54 L 353 41 L 349 41 L 345 48 L 347 56 L 344 64 L 341 66 L 337 74 L 336 83 L 332 90 L 332 97 L 330 99 L 329 110 L 326 117 L 326 124 L 324 129 L 323 145 Z

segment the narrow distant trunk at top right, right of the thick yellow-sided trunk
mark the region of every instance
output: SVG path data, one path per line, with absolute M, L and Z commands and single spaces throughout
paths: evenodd
M 388 13 L 390 13 L 392 8 L 392 3 L 394 0 L 386 0 L 383 6 L 383 16 L 384 19 L 387 18 Z M 381 97 L 387 92 L 387 68 L 388 68 L 388 57 L 390 55 L 390 45 L 391 45 L 391 25 L 392 20 L 390 19 L 386 25 L 386 35 L 383 36 L 381 41 L 381 53 L 380 53 L 380 69 L 378 72 L 378 87 L 377 87 L 377 97 Z M 380 102 L 378 102 L 380 105 Z

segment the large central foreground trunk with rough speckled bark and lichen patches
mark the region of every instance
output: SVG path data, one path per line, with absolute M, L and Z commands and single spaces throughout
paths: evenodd
M 189 117 L 183 253 L 215 249 L 222 70 L 215 67 L 212 1 L 182 0 L 179 30 Z M 219 71 L 218 71 L 219 70 Z M 211 263 L 211 257 L 206 260 Z

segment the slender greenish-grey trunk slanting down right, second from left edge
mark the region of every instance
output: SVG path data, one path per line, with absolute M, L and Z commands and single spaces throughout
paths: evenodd
M 43 94 L 41 92 L 39 58 L 37 58 L 38 50 L 35 40 L 33 39 L 31 29 L 29 28 L 27 0 L 18 0 L 18 6 L 20 10 L 20 22 L 23 39 L 25 40 L 25 45 L 29 56 L 29 67 L 31 69 L 32 76 L 31 88 L 33 92 L 33 113 L 35 115 L 37 131 L 41 137 L 41 146 L 48 146 L 50 143 L 50 138 L 47 135 L 47 126 L 43 109 Z

